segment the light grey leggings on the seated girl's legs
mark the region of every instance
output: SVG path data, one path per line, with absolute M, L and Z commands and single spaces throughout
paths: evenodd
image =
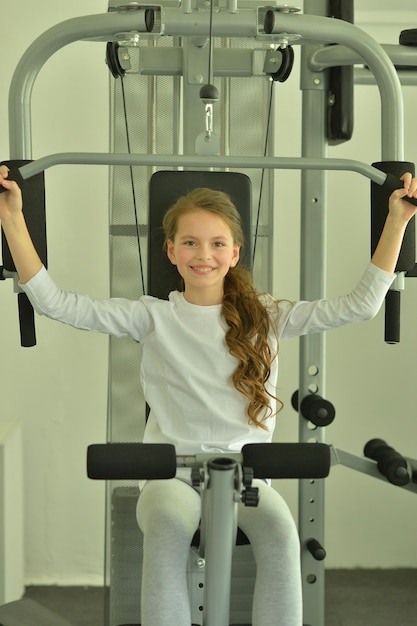
M 256 561 L 252 626 L 301 626 L 297 529 L 283 498 L 263 481 L 259 506 L 239 504 Z M 144 534 L 142 626 L 190 626 L 186 565 L 201 514 L 199 494 L 176 478 L 146 483 L 137 506 Z

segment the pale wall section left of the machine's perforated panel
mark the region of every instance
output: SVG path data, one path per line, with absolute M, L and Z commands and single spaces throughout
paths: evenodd
M 23 52 L 48 28 L 107 11 L 106 0 L 2 3 L 0 154 L 9 156 L 8 86 Z M 41 70 L 33 93 L 33 157 L 108 151 L 105 44 L 74 43 Z M 106 168 L 46 173 L 49 265 L 67 288 L 108 294 Z M 23 423 L 28 583 L 101 583 L 104 486 L 85 453 L 105 440 L 107 338 L 38 319 L 38 345 L 20 348 L 16 296 L 1 284 L 0 419 Z

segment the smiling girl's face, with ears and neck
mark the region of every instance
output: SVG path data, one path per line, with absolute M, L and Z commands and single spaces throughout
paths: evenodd
M 185 284 L 184 296 L 192 304 L 223 302 L 224 277 L 239 260 L 230 227 L 222 217 L 196 209 L 182 215 L 174 240 L 168 240 L 168 258 Z

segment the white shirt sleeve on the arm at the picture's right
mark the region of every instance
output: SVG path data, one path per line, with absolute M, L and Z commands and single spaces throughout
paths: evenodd
M 280 301 L 278 336 L 289 339 L 372 319 L 394 278 L 394 274 L 369 263 L 356 288 L 347 295 L 313 302 Z

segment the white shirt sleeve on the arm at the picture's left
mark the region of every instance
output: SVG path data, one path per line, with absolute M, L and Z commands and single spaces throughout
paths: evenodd
M 141 341 L 149 333 L 152 319 L 144 299 L 95 299 L 59 289 L 42 267 L 26 284 L 20 285 L 39 315 L 79 328 L 115 337 Z

